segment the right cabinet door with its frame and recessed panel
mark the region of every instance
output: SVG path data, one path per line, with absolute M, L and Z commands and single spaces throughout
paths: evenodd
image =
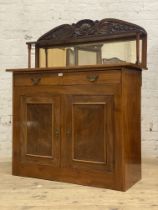
M 113 96 L 67 96 L 66 167 L 111 171 L 113 169 Z

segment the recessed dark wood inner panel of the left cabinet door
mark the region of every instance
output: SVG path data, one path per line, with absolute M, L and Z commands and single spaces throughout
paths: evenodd
M 53 156 L 53 109 L 52 104 L 27 105 L 27 154 Z

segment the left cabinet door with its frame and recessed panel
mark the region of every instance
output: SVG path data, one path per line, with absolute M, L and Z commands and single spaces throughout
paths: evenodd
M 37 164 L 60 163 L 60 98 L 20 96 L 21 159 Z

